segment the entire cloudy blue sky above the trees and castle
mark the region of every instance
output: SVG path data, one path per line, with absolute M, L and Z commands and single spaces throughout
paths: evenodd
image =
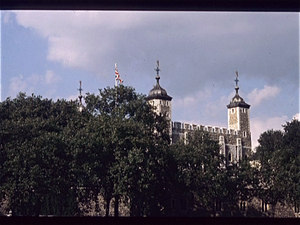
M 1 101 L 19 92 L 76 99 L 114 85 L 172 96 L 172 120 L 228 127 L 235 94 L 250 104 L 252 145 L 299 119 L 299 13 L 1 11 Z

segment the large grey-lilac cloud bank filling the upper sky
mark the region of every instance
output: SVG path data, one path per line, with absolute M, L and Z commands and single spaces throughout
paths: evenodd
M 282 74 L 291 74 L 298 65 L 298 52 L 286 45 L 298 43 L 298 34 L 293 35 L 297 33 L 293 26 L 297 17 L 293 14 L 14 13 L 20 26 L 32 29 L 47 39 L 49 61 L 103 78 L 109 76 L 117 62 L 123 73 L 128 74 L 127 84 L 136 86 L 136 76 L 153 77 L 149 71 L 159 59 L 165 79 L 177 75 L 176 80 L 169 82 L 169 90 L 175 95 L 176 90 L 192 94 L 212 84 L 229 87 L 231 82 L 224 82 L 224 77 L 232 77 L 235 69 L 245 77 L 260 77 L 273 86 L 274 82 L 283 78 Z M 294 73 L 292 76 L 297 78 Z

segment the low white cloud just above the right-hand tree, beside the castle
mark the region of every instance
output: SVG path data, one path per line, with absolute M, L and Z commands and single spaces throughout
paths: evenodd
M 282 125 L 288 121 L 287 116 L 275 116 L 271 118 L 252 118 L 250 119 L 250 129 L 252 135 L 252 148 L 258 146 L 258 138 L 260 134 L 267 130 L 283 130 Z

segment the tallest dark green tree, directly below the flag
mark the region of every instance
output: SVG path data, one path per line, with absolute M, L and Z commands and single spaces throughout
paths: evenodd
M 93 170 L 101 180 L 100 193 L 107 202 L 115 199 L 115 216 L 120 197 L 127 199 L 132 216 L 158 215 L 163 208 L 160 196 L 166 192 L 169 122 L 131 87 L 108 87 L 97 96 L 87 94 L 85 102 L 100 128 L 103 145 L 98 151 L 106 159 L 101 173 Z

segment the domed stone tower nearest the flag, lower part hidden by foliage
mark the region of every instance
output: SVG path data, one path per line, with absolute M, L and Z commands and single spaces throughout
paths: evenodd
M 167 94 L 167 91 L 163 89 L 159 84 L 159 61 L 157 60 L 156 67 L 156 85 L 151 89 L 146 100 L 156 108 L 156 113 L 159 115 L 165 115 L 170 121 L 170 132 L 172 132 L 172 97 Z

